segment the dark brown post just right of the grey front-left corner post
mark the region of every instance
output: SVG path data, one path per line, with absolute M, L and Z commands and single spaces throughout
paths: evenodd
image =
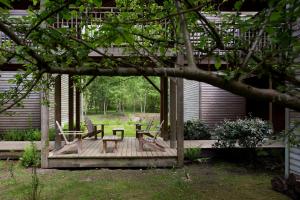
M 55 85 L 54 85 L 54 113 L 55 113 L 55 121 L 58 121 L 61 124 L 61 75 L 57 75 L 55 78 Z M 56 127 L 56 123 L 55 123 Z M 56 127 L 56 134 L 55 134 L 55 150 L 61 148 L 61 135 L 59 135 L 59 129 Z

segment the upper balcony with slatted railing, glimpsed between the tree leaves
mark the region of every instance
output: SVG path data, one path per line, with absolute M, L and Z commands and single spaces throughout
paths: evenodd
M 124 12 L 124 11 L 122 11 Z M 127 11 L 129 12 L 129 11 Z M 54 20 L 48 28 L 53 28 L 57 30 L 72 30 L 76 33 L 76 38 L 79 39 L 87 39 L 93 38 L 97 32 L 104 32 L 102 29 L 103 23 L 105 20 L 111 16 L 117 16 L 120 14 L 120 10 L 115 7 L 102 7 L 94 10 L 84 10 L 79 11 L 78 9 L 74 9 L 73 14 L 68 17 L 62 17 L 59 14 L 53 17 Z M 222 13 L 222 15 L 228 15 L 227 13 Z M 249 17 L 254 15 L 255 12 L 244 12 L 242 15 L 245 17 Z M 11 17 L 22 17 L 26 16 L 26 10 L 12 10 L 10 13 Z M 256 32 L 248 30 L 246 32 L 241 32 L 239 28 L 235 25 L 228 25 L 224 23 L 224 18 L 222 16 L 207 16 L 206 18 L 213 24 L 217 32 L 220 34 L 222 39 L 224 39 L 224 44 L 226 47 L 234 47 L 237 42 L 236 39 L 242 39 L 243 41 L 248 42 L 249 44 L 252 42 L 253 38 L 256 36 Z M 161 30 L 172 30 L 170 28 L 171 23 L 168 20 L 163 21 L 154 21 L 154 22 L 146 22 L 146 20 L 140 20 L 134 26 L 136 29 L 139 29 L 141 32 L 145 32 L 145 34 L 151 35 L 151 37 L 155 36 L 155 34 L 164 34 L 163 38 L 168 40 L 169 38 L 174 37 L 173 31 L 164 31 L 163 33 L 154 32 L 153 34 L 149 32 L 149 27 L 151 26 L 159 26 Z M 148 31 L 148 32 L 147 32 Z M 63 32 L 63 31 L 62 31 Z M 203 25 L 199 22 L 197 24 L 197 29 L 190 32 L 190 40 L 194 47 L 194 56 L 198 63 L 207 64 L 214 63 L 212 58 L 207 58 L 207 52 L 203 51 L 203 49 L 209 50 L 212 49 L 213 41 L 209 37 L 207 37 L 207 31 L 203 27 Z M 230 36 L 230 37 L 229 37 Z M 206 39 L 205 39 L 206 38 Z M 230 40 L 226 38 L 231 38 Z M 142 36 L 134 36 L 134 39 L 138 41 L 140 44 L 144 44 L 145 38 Z M 0 32 L 0 45 L 9 43 L 10 45 L 6 48 L 14 48 L 14 42 L 6 36 L 3 32 Z M 31 41 L 26 40 L 26 43 L 30 45 Z M 103 57 L 103 55 L 107 56 L 116 56 L 116 57 L 124 57 L 124 56 L 148 56 L 151 53 L 145 49 L 130 49 L 127 48 L 128 43 L 111 43 L 109 45 L 99 46 L 97 51 L 91 51 L 90 57 Z M 264 33 L 259 40 L 259 43 L 256 46 L 256 51 L 260 51 L 263 48 L 269 47 L 267 34 Z M 173 57 L 175 55 L 174 44 L 170 42 L 170 46 L 164 52 L 164 56 Z M 130 50 L 129 50 L 130 49 Z M 224 50 L 221 49 L 213 49 L 213 53 L 217 53 L 219 55 L 223 55 L 225 53 Z M 153 52 L 152 52 L 153 53 Z M 161 52 L 156 52 L 156 55 L 160 55 Z

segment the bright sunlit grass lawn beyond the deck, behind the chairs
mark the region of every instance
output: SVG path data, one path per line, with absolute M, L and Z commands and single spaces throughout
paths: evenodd
M 142 115 L 142 116 L 141 116 Z M 143 114 L 134 114 L 134 113 L 109 113 L 106 115 L 88 115 L 88 117 L 92 120 L 93 124 L 105 124 L 104 125 L 104 133 L 106 135 L 112 134 L 113 128 L 124 128 L 125 137 L 135 137 L 135 124 L 141 123 L 146 125 L 148 120 L 151 118 L 154 119 L 154 125 L 152 129 L 155 129 L 159 124 L 159 114 L 155 113 L 143 113 Z M 133 121 L 133 118 L 139 117 L 141 121 Z

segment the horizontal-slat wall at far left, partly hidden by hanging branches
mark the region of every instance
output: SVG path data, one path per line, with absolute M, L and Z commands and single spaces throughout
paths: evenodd
M 8 80 L 13 79 L 16 73 L 15 71 L 0 72 L 0 92 L 13 86 L 8 83 Z M 0 133 L 6 129 L 40 128 L 40 94 L 31 92 L 23 103 L 24 107 L 14 107 L 6 114 L 0 114 Z

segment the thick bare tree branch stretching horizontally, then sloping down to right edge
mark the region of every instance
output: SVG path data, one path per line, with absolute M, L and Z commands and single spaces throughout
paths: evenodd
M 51 67 L 47 72 L 59 74 L 77 74 L 77 75 L 98 75 L 98 76 L 170 76 L 181 77 L 190 80 L 205 82 L 210 85 L 219 87 L 237 95 L 241 95 L 251 99 L 260 99 L 270 101 L 273 103 L 281 104 L 300 111 L 299 98 L 290 96 L 288 94 L 279 93 L 273 89 L 261 89 L 252 87 L 250 85 L 241 83 L 239 81 L 227 81 L 223 77 L 218 76 L 212 72 L 207 72 L 201 69 L 193 68 L 125 68 L 120 67 L 116 69 L 103 69 L 103 68 L 60 68 Z

